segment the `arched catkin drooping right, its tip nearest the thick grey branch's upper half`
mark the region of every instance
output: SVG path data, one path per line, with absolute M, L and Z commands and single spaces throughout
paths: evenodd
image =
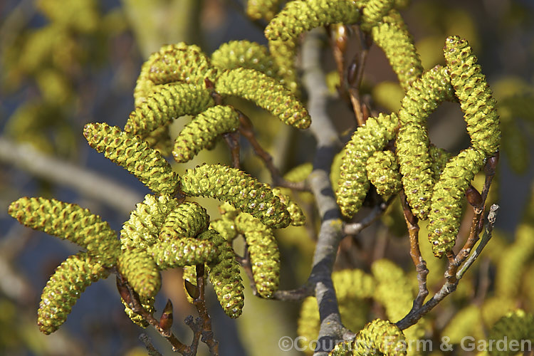
M 225 70 L 215 83 L 221 95 L 236 95 L 251 100 L 271 112 L 286 125 L 298 129 L 310 127 L 311 118 L 303 103 L 278 80 L 257 70 L 236 68 Z

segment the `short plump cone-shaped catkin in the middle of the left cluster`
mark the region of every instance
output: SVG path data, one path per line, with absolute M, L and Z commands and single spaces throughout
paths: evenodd
M 194 238 L 208 229 L 209 216 L 196 202 L 178 204 L 165 218 L 159 231 L 159 241 L 175 241 L 184 237 Z

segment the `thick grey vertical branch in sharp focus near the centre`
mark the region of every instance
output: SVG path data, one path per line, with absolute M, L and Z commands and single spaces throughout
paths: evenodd
M 340 340 L 346 331 L 341 323 L 332 282 L 337 247 L 342 238 L 342 220 L 330 184 L 330 165 L 340 147 L 340 140 L 326 110 L 328 88 L 320 67 L 322 36 L 320 29 L 311 31 L 305 37 L 302 49 L 303 84 L 308 92 L 308 110 L 312 117 L 310 130 L 318 146 L 309 182 L 321 216 L 312 272 L 308 280 L 315 288 L 320 315 L 318 350 L 315 350 L 315 356 L 328 355 L 333 342 Z

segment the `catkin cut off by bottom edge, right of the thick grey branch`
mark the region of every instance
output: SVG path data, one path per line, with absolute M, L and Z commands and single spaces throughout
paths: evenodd
M 407 355 L 404 333 L 389 320 L 373 320 L 357 333 L 352 355 Z

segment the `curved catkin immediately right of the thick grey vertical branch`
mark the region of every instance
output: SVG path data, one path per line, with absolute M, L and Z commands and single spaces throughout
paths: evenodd
M 370 188 L 365 171 L 367 159 L 378 150 L 383 150 L 387 142 L 394 138 L 398 123 L 395 114 L 369 117 L 345 145 L 336 191 L 337 204 L 344 216 L 352 217 L 362 206 Z

